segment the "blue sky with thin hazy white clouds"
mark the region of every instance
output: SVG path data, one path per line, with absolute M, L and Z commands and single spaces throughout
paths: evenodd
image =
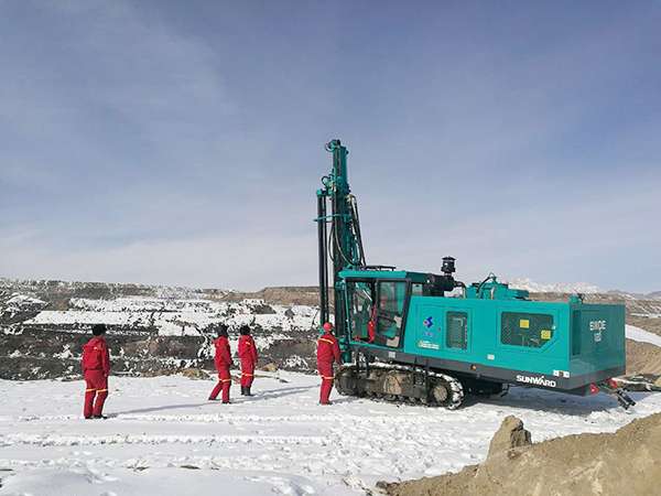
M 661 3 L 0 1 L 0 276 L 316 283 L 323 144 L 369 263 L 661 290 Z

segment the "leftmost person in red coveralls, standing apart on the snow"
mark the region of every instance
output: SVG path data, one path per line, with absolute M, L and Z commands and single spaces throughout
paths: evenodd
M 104 403 L 108 398 L 108 374 L 110 374 L 110 352 L 106 344 L 106 326 L 96 324 L 91 327 L 94 337 L 83 346 L 83 374 L 85 375 L 85 418 L 106 419 Z M 96 403 L 94 398 L 97 396 Z M 94 405 L 94 408 L 93 408 Z

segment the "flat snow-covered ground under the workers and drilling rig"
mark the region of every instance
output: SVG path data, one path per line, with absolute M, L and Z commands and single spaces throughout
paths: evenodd
M 322 407 L 318 377 L 260 375 L 231 405 L 206 400 L 214 380 L 111 377 L 105 421 L 82 418 L 83 381 L 0 381 L 0 495 L 366 494 L 484 461 L 508 414 L 541 441 L 661 411 L 652 392 L 625 412 L 604 395 L 522 388 L 456 411 L 335 392 Z

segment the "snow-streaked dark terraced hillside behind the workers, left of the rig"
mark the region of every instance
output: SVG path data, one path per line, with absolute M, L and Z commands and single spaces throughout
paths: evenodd
M 213 368 L 219 323 L 230 326 L 234 349 L 237 328 L 247 324 L 262 363 L 311 370 L 317 311 L 293 303 L 310 300 L 305 289 L 292 290 L 292 302 L 284 304 L 286 292 L 0 280 L 0 378 L 77 376 L 96 323 L 111 328 L 116 374 Z

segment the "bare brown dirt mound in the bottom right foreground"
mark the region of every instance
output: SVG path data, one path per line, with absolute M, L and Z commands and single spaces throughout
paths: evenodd
M 517 445 L 527 438 L 517 420 L 506 419 L 485 463 L 382 487 L 391 496 L 661 495 L 661 413 L 633 420 L 613 434 L 531 445 Z

